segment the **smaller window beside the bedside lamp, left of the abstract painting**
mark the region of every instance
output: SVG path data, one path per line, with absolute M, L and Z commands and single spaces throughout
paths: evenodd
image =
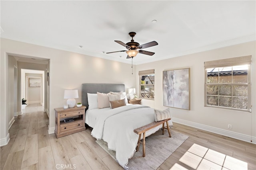
M 140 98 L 154 100 L 155 73 L 152 70 L 139 71 Z

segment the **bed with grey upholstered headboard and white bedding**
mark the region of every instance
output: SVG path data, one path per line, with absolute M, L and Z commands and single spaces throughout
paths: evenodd
M 108 149 L 116 151 L 116 160 L 125 169 L 136 151 L 138 135 L 134 129 L 154 122 L 154 109 L 148 106 L 126 104 L 117 108 L 105 107 L 98 109 L 97 92 L 123 92 L 124 84 L 82 84 L 82 104 L 86 106 L 85 123 L 92 127 L 91 135 L 97 140 L 103 139 L 108 143 Z M 125 96 L 122 96 L 123 98 Z M 172 125 L 172 122 L 170 122 Z M 147 131 L 149 136 L 162 126 Z

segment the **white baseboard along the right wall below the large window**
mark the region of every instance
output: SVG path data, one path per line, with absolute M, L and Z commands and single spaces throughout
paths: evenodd
M 239 139 L 241 141 L 246 141 L 246 142 L 249 142 L 249 143 L 256 144 L 256 137 L 251 137 L 249 135 L 244 135 L 244 134 L 241 134 L 241 133 L 227 131 L 227 130 L 224 130 L 224 129 L 219 129 L 219 128 L 216 128 L 216 127 L 202 125 L 202 124 L 199 124 L 199 123 L 194 123 L 194 122 L 191 122 L 191 121 L 186 121 L 186 120 L 182 120 L 182 119 L 178 119 L 178 118 L 174 118 L 174 117 L 172 117 L 172 121 L 176 122 L 176 123 L 183 124 L 183 125 L 187 125 L 187 126 L 190 126 L 190 127 L 195 127 L 197 129 L 202 129 L 204 131 L 209 131 L 209 132 L 212 132 L 212 133 L 217 133 L 219 135 L 224 135 L 224 136 L 227 136 L 227 137 L 232 137 L 234 139 Z M 251 140 L 252 140 L 252 142 L 251 142 Z

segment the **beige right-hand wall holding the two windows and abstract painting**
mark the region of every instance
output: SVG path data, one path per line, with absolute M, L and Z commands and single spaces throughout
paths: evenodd
M 204 107 L 204 61 L 227 59 L 252 55 L 252 113 Z M 242 140 L 256 140 L 256 43 L 255 41 L 214 49 L 201 53 L 175 57 L 136 66 L 136 91 L 138 92 L 138 71 L 155 69 L 155 100 L 142 100 L 142 104 L 166 109 L 162 105 L 162 72 L 175 68 L 190 68 L 190 110 L 170 107 L 173 121 L 206 129 Z M 228 129 L 228 124 L 232 129 Z

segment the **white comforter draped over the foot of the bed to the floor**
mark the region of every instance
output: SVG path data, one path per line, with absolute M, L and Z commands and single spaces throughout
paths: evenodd
M 108 149 L 116 151 L 118 163 L 126 166 L 136 150 L 138 136 L 134 129 L 154 122 L 154 109 L 142 105 L 127 105 L 109 109 L 98 117 L 92 136 L 108 143 Z M 162 125 L 146 132 L 146 136 L 158 131 Z

